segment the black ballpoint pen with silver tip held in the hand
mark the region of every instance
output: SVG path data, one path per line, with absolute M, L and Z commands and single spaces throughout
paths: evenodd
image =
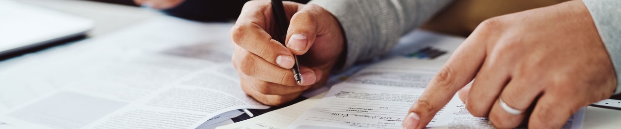
M 271 0 L 272 2 L 272 14 L 273 14 L 273 31 L 272 37 L 274 40 L 283 43 L 285 38 L 287 37 L 287 29 L 289 27 L 289 22 L 287 21 L 287 14 L 284 12 L 283 0 Z M 296 79 L 298 85 L 302 84 L 302 74 L 300 74 L 300 68 L 297 64 L 297 56 L 293 55 L 293 60 L 295 63 L 293 64 L 293 78 Z

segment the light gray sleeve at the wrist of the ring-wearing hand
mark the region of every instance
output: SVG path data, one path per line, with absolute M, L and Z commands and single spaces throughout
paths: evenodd
M 620 0 L 584 0 L 599 37 L 602 38 L 610 60 L 617 73 L 617 90 L 621 93 L 621 1 Z M 594 66 L 597 67 L 597 66 Z

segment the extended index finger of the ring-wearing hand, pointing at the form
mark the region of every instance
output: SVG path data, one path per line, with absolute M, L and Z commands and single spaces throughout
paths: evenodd
M 486 45 L 481 39 L 473 33 L 455 50 L 429 82 L 425 92 L 410 107 L 404 127 L 425 128 L 455 92 L 472 81 L 486 57 Z

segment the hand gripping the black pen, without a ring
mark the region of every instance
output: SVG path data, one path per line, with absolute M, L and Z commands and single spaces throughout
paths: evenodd
M 250 1 L 232 29 L 232 61 L 242 89 L 266 105 L 281 105 L 323 86 L 333 66 L 344 60 L 342 30 L 330 12 L 312 4 L 282 3 L 288 27 L 274 19 L 278 16 L 271 1 Z M 299 79 L 292 70 L 296 63 Z

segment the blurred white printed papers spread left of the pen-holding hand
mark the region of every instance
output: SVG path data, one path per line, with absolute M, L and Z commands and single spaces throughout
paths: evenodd
M 173 17 L 0 65 L 0 122 L 20 128 L 199 128 L 238 109 L 232 24 Z M 223 114 L 224 115 L 219 115 Z M 236 117 L 236 116 L 235 116 Z M 203 125 L 203 123 L 206 123 Z

